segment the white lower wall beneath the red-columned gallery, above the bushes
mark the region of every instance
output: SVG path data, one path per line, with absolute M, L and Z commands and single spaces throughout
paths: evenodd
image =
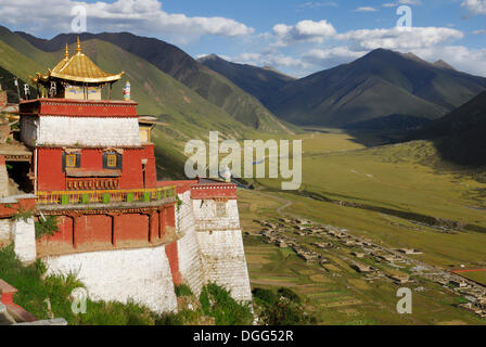
M 77 273 L 93 300 L 131 298 L 155 312 L 177 310 L 165 246 L 48 257 L 44 262 L 48 274 Z

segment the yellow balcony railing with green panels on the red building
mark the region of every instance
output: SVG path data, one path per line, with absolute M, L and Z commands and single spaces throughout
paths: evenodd
M 103 190 L 103 191 L 55 191 L 37 192 L 38 205 L 110 204 L 136 202 L 172 202 L 176 187 L 153 189 Z

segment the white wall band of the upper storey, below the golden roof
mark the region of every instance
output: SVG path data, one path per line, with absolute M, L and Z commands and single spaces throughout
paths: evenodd
M 29 145 L 141 145 L 137 118 L 27 117 L 21 129 Z

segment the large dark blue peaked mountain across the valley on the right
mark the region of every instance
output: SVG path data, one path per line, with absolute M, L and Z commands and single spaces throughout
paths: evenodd
M 266 106 L 297 125 L 343 127 L 394 114 L 436 119 L 484 89 L 486 78 L 378 49 L 285 83 Z

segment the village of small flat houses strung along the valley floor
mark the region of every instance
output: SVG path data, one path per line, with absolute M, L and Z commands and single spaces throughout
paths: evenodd
M 456 307 L 486 318 L 486 287 L 413 258 L 423 254 L 419 249 L 392 249 L 356 236 L 348 230 L 300 218 L 254 221 L 263 227 L 260 235 L 264 242 L 293 249 L 303 260 L 318 264 L 331 277 L 341 275 L 328 266 L 333 262 L 333 257 L 338 257 L 369 283 L 387 281 L 414 292 L 426 290 L 418 284 L 419 279 L 420 282 L 436 283 L 450 294 L 465 299 Z

